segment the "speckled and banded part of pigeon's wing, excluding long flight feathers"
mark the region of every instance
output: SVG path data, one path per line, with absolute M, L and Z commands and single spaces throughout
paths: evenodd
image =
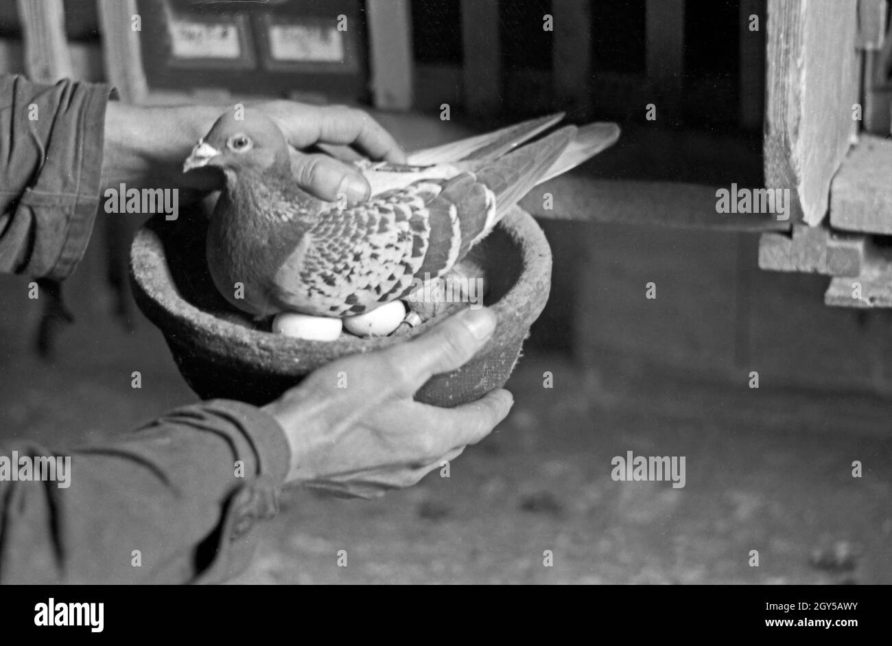
M 333 207 L 279 269 L 277 299 L 318 316 L 374 309 L 446 273 L 494 216 L 492 192 L 469 173 Z

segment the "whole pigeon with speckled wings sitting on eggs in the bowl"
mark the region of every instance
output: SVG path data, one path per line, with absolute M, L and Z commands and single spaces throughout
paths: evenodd
M 225 175 L 208 228 L 208 268 L 220 294 L 257 319 L 283 311 L 343 319 L 406 298 L 463 261 L 533 186 L 619 137 L 613 123 L 542 135 L 563 119 L 555 114 L 415 153 L 405 164 L 360 160 L 371 193 L 347 204 L 301 190 L 276 123 L 258 111 L 241 116 L 220 116 L 184 171 L 207 166 Z

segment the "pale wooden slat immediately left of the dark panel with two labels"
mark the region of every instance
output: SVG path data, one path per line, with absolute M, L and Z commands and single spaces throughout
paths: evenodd
M 103 33 L 103 57 L 108 80 L 118 89 L 121 101 L 140 104 L 149 94 L 135 31 L 136 0 L 97 0 Z

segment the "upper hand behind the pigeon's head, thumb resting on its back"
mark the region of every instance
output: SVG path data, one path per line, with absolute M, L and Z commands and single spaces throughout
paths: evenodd
M 183 162 L 225 110 L 237 106 L 136 106 L 112 101 L 105 115 L 103 186 L 178 188 L 179 203 L 219 190 L 223 178 L 213 169 L 183 172 Z M 295 149 L 318 144 L 349 145 L 371 159 L 404 162 L 401 147 L 366 112 L 346 106 L 293 101 L 244 104 L 277 123 Z M 350 165 L 326 154 L 293 151 L 295 181 L 318 198 L 348 202 L 368 198 L 368 182 Z

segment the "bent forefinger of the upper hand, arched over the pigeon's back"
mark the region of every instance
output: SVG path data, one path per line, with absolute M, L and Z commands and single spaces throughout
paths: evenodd
M 343 106 L 322 108 L 318 114 L 319 141 L 351 145 L 372 159 L 404 163 L 406 153 L 381 124 L 366 112 Z

